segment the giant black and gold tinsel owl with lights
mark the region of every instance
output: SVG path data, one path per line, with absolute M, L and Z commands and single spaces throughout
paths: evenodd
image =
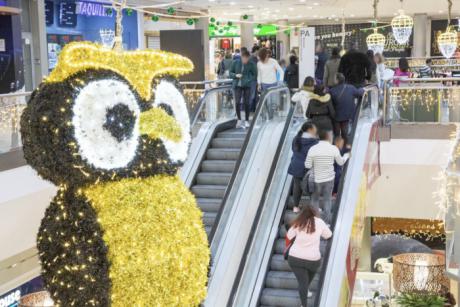
M 42 220 L 42 275 L 60 306 L 197 306 L 209 250 L 176 175 L 189 118 L 161 51 L 67 45 L 21 119 L 28 163 L 59 187 Z

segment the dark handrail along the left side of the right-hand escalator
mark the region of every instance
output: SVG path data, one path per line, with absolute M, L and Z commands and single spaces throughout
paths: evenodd
M 235 300 L 235 297 L 236 297 L 236 293 L 238 291 L 238 287 L 239 287 L 241 278 L 243 276 L 244 268 L 246 266 L 246 262 L 247 262 L 248 257 L 249 257 L 249 251 L 250 251 L 251 246 L 252 246 L 253 241 L 254 241 L 254 237 L 255 237 L 255 234 L 256 234 L 256 229 L 257 229 L 257 227 L 259 225 L 259 222 L 260 222 L 260 218 L 261 218 L 261 215 L 262 215 L 262 210 L 264 208 L 264 204 L 265 204 L 266 198 L 268 196 L 268 191 L 269 191 L 269 189 L 271 188 L 271 185 L 272 185 L 273 175 L 275 174 L 276 167 L 277 167 L 277 164 L 278 164 L 277 162 L 278 162 L 278 159 L 279 159 L 279 157 L 281 155 L 281 150 L 283 149 L 283 145 L 284 145 L 286 136 L 287 136 L 287 134 L 289 132 L 289 127 L 291 125 L 292 118 L 293 118 L 294 113 L 295 113 L 295 108 L 296 108 L 296 104 L 291 101 L 291 106 L 290 106 L 290 109 L 289 109 L 287 120 L 286 120 L 286 122 L 284 124 L 283 132 L 281 133 L 280 141 L 278 143 L 275 155 L 273 157 L 273 163 L 272 163 L 272 165 L 270 167 L 270 171 L 268 173 L 267 181 L 265 183 L 265 187 L 264 187 L 264 190 L 262 192 L 262 198 L 260 199 L 259 205 L 257 206 L 257 212 L 256 212 L 256 215 L 254 216 L 254 221 L 252 222 L 251 231 L 249 233 L 248 240 L 246 241 L 246 246 L 244 247 L 243 258 L 241 259 L 240 265 L 238 267 L 238 272 L 237 272 L 236 277 L 235 277 L 235 281 L 233 282 L 232 290 L 230 292 L 230 297 L 229 297 L 228 302 L 227 302 L 227 307 L 233 306 L 233 303 L 234 303 L 234 300 Z

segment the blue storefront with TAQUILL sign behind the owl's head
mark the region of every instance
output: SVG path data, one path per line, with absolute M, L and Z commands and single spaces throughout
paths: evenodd
M 73 41 L 101 42 L 101 31 L 115 29 L 115 10 L 110 3 L 45 1 L 49 69 L 57 63 L 62 47 Z M 123 47 L 138 48 L 137 13 L 123 11 Z

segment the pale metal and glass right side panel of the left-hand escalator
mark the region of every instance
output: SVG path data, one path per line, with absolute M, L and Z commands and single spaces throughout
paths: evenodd
M 259 101 L 211 233 L 213 265 L 205 306 L 223 306 L 227 301 L 266 178 L 293 112 L 289 89 L 284 86 L 271 88 Z

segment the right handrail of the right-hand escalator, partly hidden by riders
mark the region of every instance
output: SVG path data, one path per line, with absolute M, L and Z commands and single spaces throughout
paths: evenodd
M 362 111 L 364 110 L 364 108 L 370 108 L 371 107 L 371 106 L 363 107 L 363 102 L 365 101 L 365 98 L 368 97 L 368 93 L 370 91 L 372 91 L 373 89 L 375 89 L 375 88 L 377 88 L 377 86 L 375 86 L 375 85 L 366 87 L 364 89 L 365 92 L 364 92 L 364 95 L 363 95 L 362 99 L 358 101 L 357 112 L 355 114 L 352 130 L 351 130 L 351 144 L 352 145 L 353 145 L 354 137 L 355 137 L 356 130 L 357 130 L 357 127 L 358 127 L 358 121 L 360 119 Z M 349 163 L 347 161 L 347 163 L 345 164 L 345 166 L 343 168 L 342 178 L 340 179 L 339 188 L 337 190 L 336 206 L 339 206 L 339 207 L 337 208 L 337 210 L 335 211 L 335 213 L 334 213 L 334 215 L 332 217 L 332 226 L 333 226 L 334 232 L 337 231 L 337 229 L 335 229 L 335 226 L 336 226 L 336 223 L 337 223 L 338 213 L 340 211 L 340 203 L 341 203 L 342 196 L 343 196 L 343 193 L 344 193 L 345 178 L 347 177 L 347 173 L 348 173 L 348 165 L 349 165 Z M 316 296 L 315 296 L 314 306 L 319 306 L 319 303 L 321 301 L 321 296 L 322 296 L 323 288 L 324 288 L 323 284 L 325 282 L 326 272 L 327 272 L 327 263 L 329 262 L 329 256 L 331 254 L 331 246 L 332 246 L 333 239 L 334 238 L 332 238 L 332 239 L 327 241 L 326 251 L 325 251 L 325 254 L 322 256 L 322 267 L 321 267 L 321 273 L 320 273 L 320 278 L 319 278 L 319 288 L 318 288 L 318 293 L 316 293 Z

